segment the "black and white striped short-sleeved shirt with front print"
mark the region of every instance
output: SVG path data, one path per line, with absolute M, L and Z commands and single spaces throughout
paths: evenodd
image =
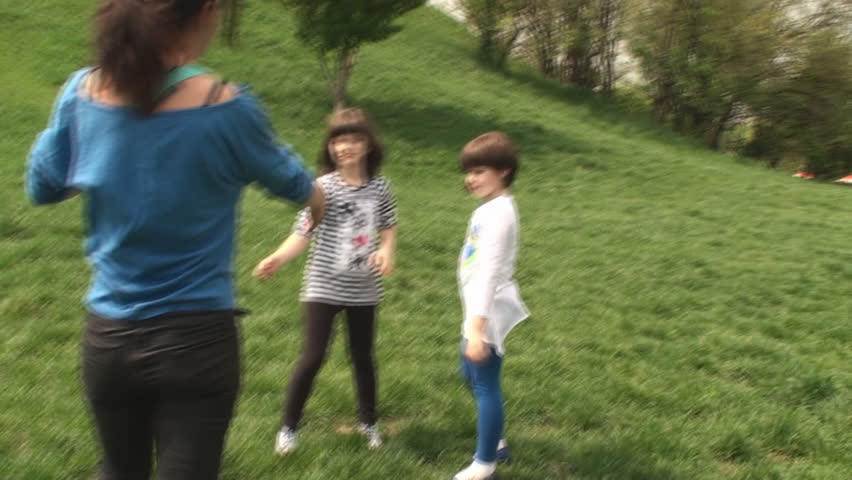
M 396 225 L 396 200 L 381 176 L 362 186 L 343 182 L 338 172 L 317 179 L 326 199 L 322 223 L 308 233 L 308 209 L 299 213 L 295 233 L 312 238 L 301 301 L 333 305 L 378 305 L 382 280 L 369 263 L 379 233 Z

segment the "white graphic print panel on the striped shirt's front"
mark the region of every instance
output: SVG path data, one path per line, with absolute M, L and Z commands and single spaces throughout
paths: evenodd
M 370 271 L 370 247 L 376 231 L 376 202 L 346 201 L 341 205 L 340 255 L 337 270 L 345 272 Z

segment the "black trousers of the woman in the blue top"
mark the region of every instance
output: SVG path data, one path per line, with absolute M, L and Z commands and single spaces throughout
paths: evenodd
M 101 480 L 215 480 L 240 384 L 234 311 L 143 321 L 90 314 L 83 379 Z

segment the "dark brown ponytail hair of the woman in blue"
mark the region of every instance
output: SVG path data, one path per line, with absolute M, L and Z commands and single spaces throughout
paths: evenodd
M 95 15 L 95 62 L 103 80 L 151 113 L 168 73 L 163 53 L 215 1 L 101 0 Z

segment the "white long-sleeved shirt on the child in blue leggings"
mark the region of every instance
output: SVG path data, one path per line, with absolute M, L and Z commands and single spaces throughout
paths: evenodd
M 509 331 L 529 316 L 512 278 L 519 234 L 515 200 L 510 194 L 500 195 L 473 212 L 459 256 L 462 333 L 473 317 L 485 317 L 484 340 L 501 356 Z

